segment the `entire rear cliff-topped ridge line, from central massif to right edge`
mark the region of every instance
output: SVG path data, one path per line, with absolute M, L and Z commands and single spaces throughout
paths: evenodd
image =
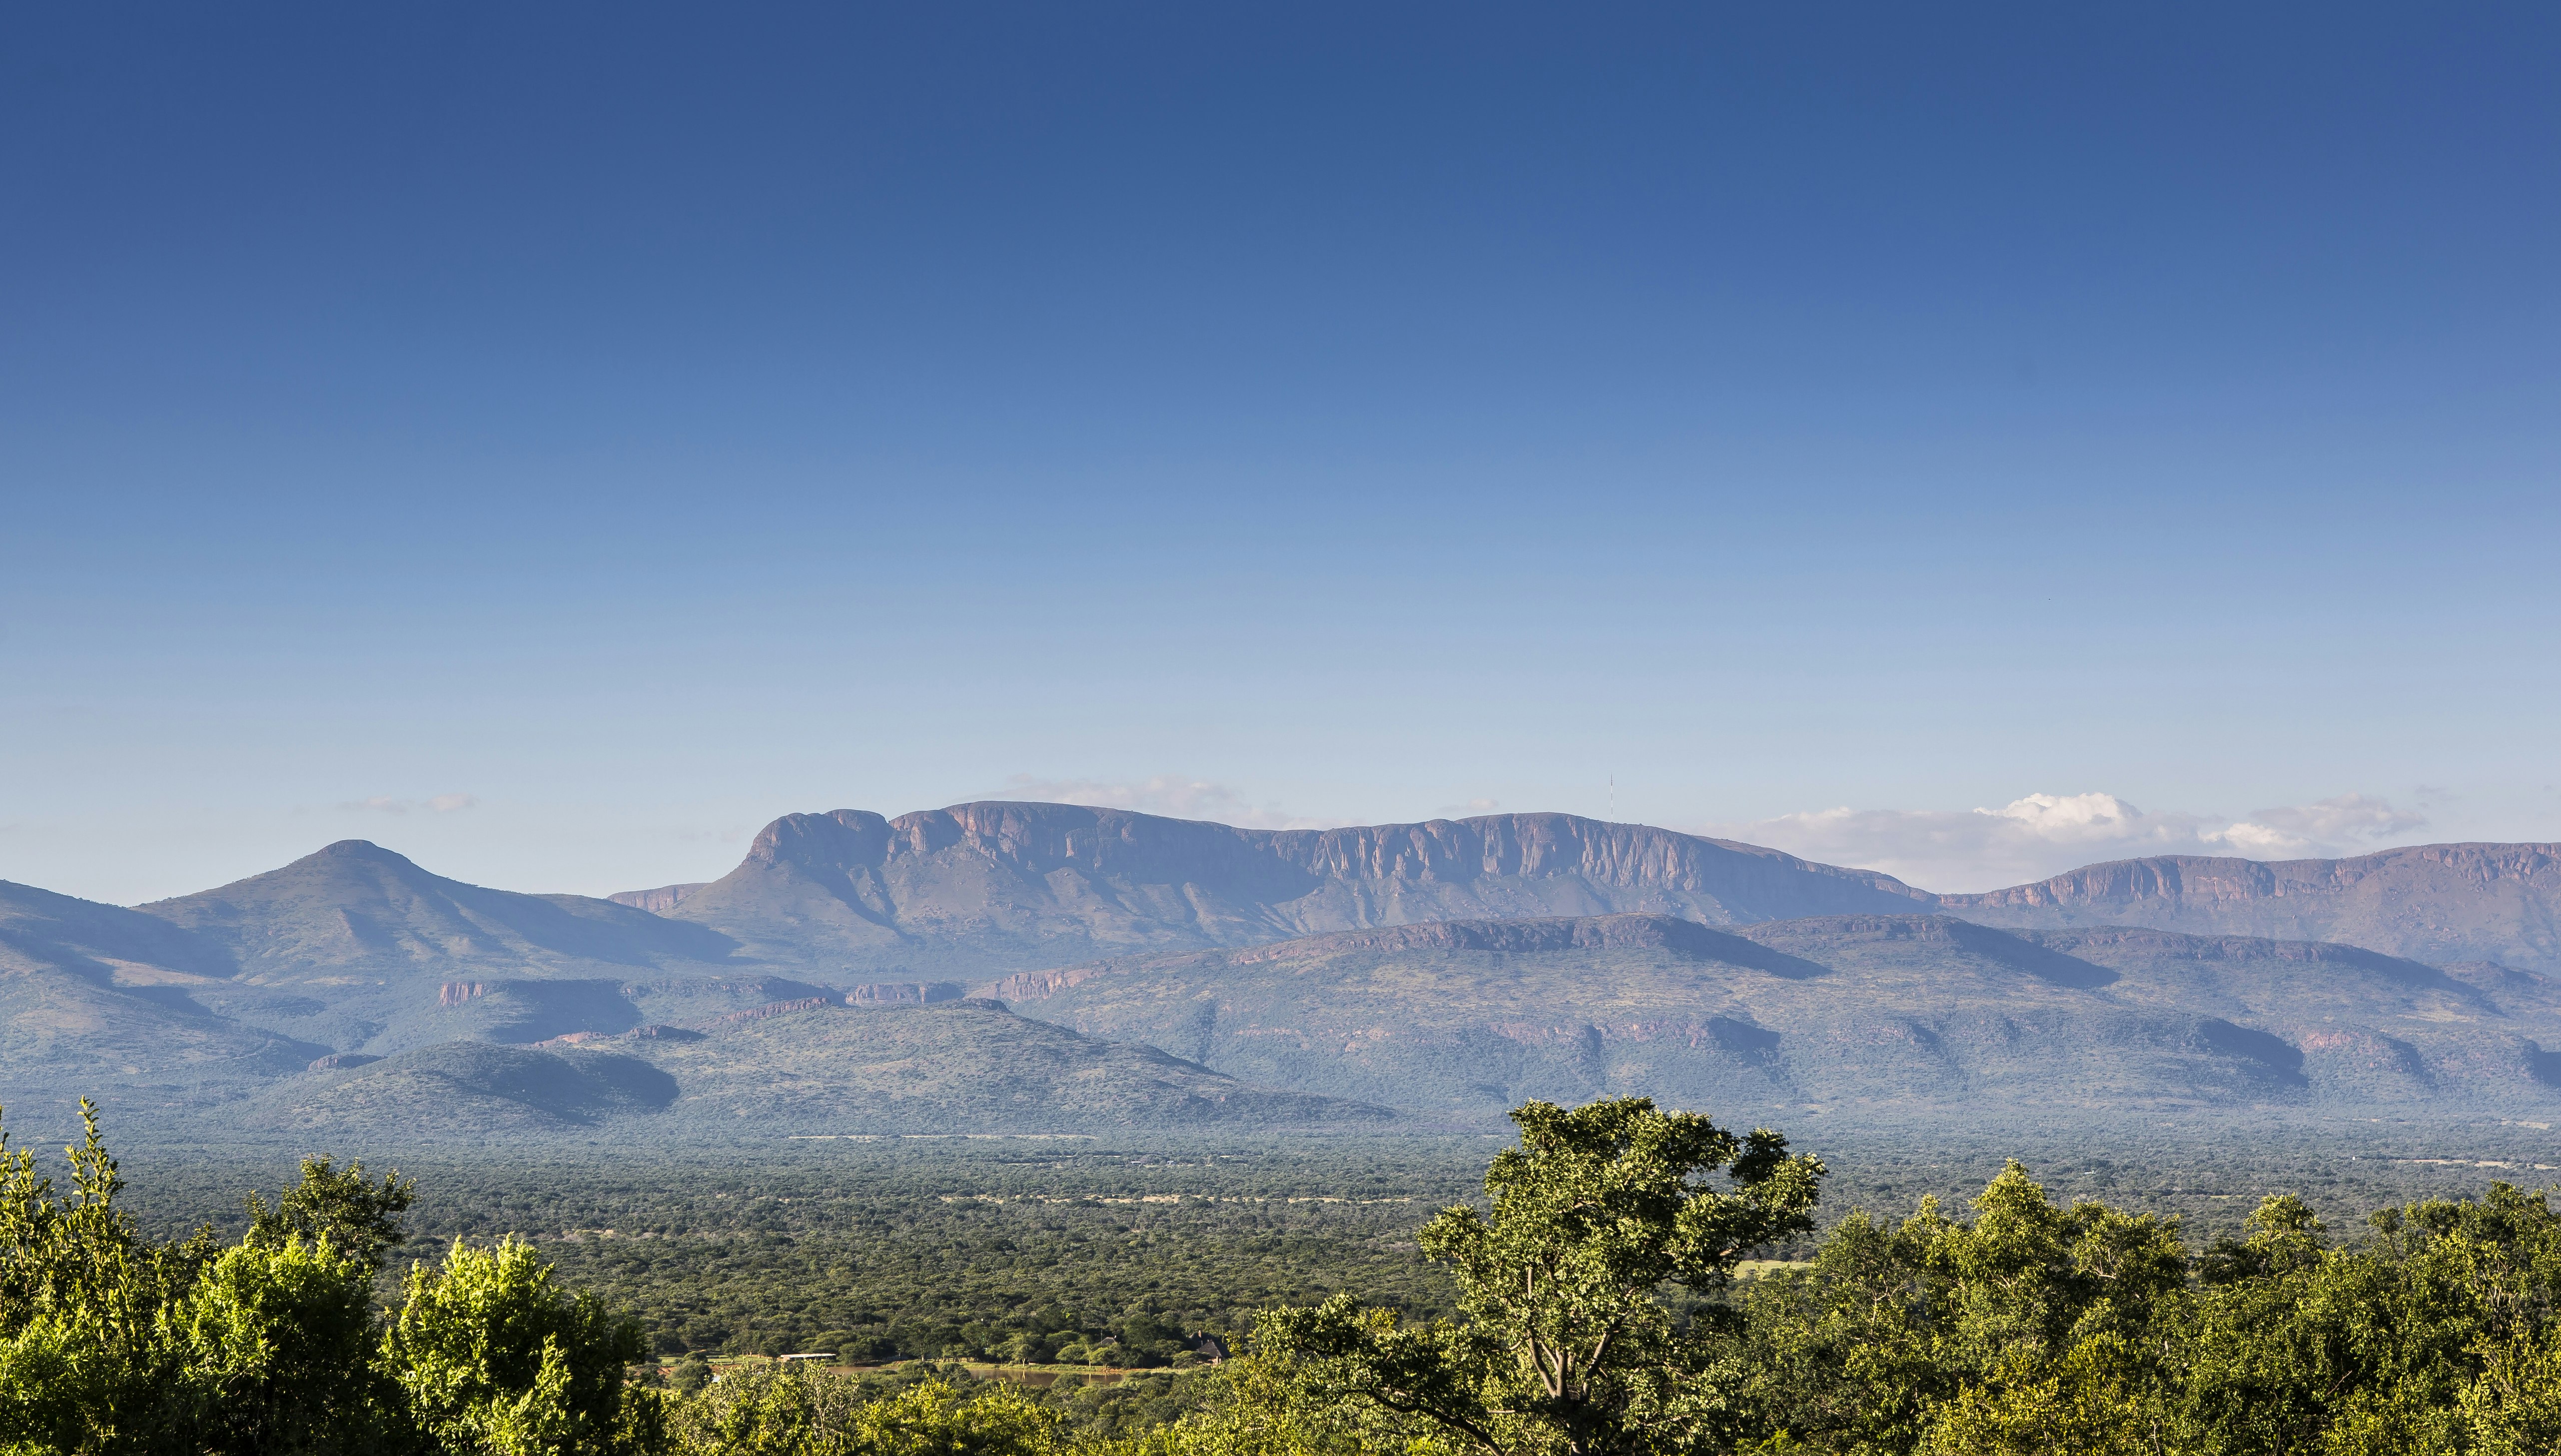
M 2561 844 L 2121 860 L 1934 896 L 1875 870 L 1572 814 L 1234 829 L 1068 803 L 955 803 L 899 819 L 786 814 L 720 880 L 615 898 L 717 929 L 776 965 L 930 975 L 1457 919 L 1662 914 L 1741 926 L 1916 908 L 2010 926 L 2336 939 L 2561 972 Z

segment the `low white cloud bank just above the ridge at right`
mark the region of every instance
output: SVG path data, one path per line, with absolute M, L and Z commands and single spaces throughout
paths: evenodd
M 2113 793 L 2028 793 L 2000 809 L 1816 809 L 1749 824 L 1713 824 L 1706 832 L 1826 865 L 1885 870 L 1928 890 L 1962 893 L 2141 855 L 2243 860 L 2364 855 L 2425 824 L 2425 816 L 2364 793 L 2251 809 L 2238 819 L 2177 809 L 2144 811 Z

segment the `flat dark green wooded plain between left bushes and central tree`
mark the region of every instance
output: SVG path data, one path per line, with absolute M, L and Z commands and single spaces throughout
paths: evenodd
M 1485 1146 L 1219 1157 L 919 1139 L 648 1175 L 446 1164 L 417 1221 L 535 1238 L 563 1279 L 633 1310 L 661 1356 L 1170 1366 L 1206 1333 L 1242 1343 L 1263 1305 L 1337 1290 L 1450 1310 L 1414 1231 L 1475 1182 Z

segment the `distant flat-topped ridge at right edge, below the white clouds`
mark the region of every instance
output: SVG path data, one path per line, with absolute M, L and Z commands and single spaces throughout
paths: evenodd
M 2561 972 L 2561 844 L 2415 844 L 2354 860 L 2156 855 L 1936 903 L 1985 924 L 2328 939 Z

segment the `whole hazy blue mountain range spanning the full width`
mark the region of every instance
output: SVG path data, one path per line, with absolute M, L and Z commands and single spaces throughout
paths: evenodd
M 1565 814 L 960 803 L 791 814 L 720 880 L 586 898 L 348 839 L 136 908 L 0 883 L 0 1100 L 205 1136 L 1383 1126 L 1601 1090 L 2528 1116 L 2561 1111 L 2556 919 L 2556 844 L 1936 896 Z

